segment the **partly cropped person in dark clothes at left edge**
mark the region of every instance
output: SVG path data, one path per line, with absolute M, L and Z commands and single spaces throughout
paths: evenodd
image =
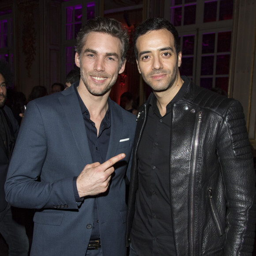
M 5 105 L 6 87 L 11 85 L 11 81 L 11 68 L 7 62 L 0 60 L 0 233 L 8 244 L 10 256 L 27 256 L 29 240 L 25 226 L 13 218 L 11 205 L 5 200 L 4 193 L 6 173 L 19 132 L 17 120 L 11 109 Z

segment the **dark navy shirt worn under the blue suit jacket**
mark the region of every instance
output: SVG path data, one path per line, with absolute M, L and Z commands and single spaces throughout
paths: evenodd
M 99 162 L 103 163 L 106 161 L 106 155 L 109 147 L 109 138 L 110 138 L 110 124 L 111 124 L 111 119 L 110 119 L 110 99 L 108 98 L 108 110 L 105 113 L 105 117 L 103 118 L 100 129 L 98 132 L 97 136 L 97 129 L 95 127 L 95 123 L 90 120 L 90 113 L 87 109 L 87 107 L 84 105 L 83 100 L 81 99 L 78 91 L 77 91 L 77 86 L 79 83 L 76 83 L 74 85 L 75 87 L 75 92 L 78 97 L 79 105 L 83 114 L 83 120 L 84 124 L 86 127 L 86 132 L 87 132 L 87 138 L 89 142 L 89 147 L 90 147 L 90 153 L 92 157 L 93 162 Z M 76 187 L 76 178 L 74 177 L 73 179 L 73 188 L 74 188 L 74 194 L 75 194 L 75 199 L 77 202 L 82 201 L 79 197 L 77 187 Z M 97 208 L 97 196 L 94 196 L 94 223 L 92 227 L 92 233 L 91 233 L 91 239 L 98 239 L 100 238 L 100 230 L 99 230 L 99 225 L 98 225 L 98 208 Z

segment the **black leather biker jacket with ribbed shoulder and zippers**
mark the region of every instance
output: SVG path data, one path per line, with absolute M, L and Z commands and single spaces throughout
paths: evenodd
M 169 159 L 170 216 L 176 254 L 251 255 L 256 179 L 243 108 L 237 100 L 197 87 L 186 77 L 182 79 L 189 85 L 173 104 Z M 137 152 L 149 100 L 138 111 L 127 246 L 139 184 Z

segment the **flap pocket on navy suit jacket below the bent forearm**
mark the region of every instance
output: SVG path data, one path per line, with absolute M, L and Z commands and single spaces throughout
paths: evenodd
M 64 213 L 60 212 L 36 212 L 33 220 L 38 224 L 60 226 L 63 217 Z

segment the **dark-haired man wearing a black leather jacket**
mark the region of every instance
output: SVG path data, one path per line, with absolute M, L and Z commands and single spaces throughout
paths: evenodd
M 180 75 L 179 36 L 169 21 L 147 19 L 134 43 L 153 93 L 137 114 L 130 256 L 251 255 L 255 173 L 240 102 Z

